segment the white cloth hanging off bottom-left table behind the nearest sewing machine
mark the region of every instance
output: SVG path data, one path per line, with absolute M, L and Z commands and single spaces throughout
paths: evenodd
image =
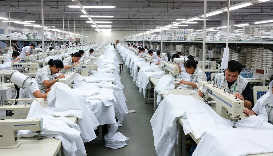
M 78 125 L 64 117 L 54 118 L 44 110 L 40 103 L 33 101 L 26 119 L 43 118 L 41 136 L 61 140 L 66 156 L 84 156 L 85 147 L 80 137 Z M 33 137 L 37 135 L 32 130 L 19 130 L 18 137 Z

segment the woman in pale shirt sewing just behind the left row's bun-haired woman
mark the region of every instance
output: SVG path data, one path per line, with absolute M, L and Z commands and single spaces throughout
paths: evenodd
M 69 69 L 74 68 L 77 64 L 79 64 L 79 60 L 81 59 L 82 55 L 79 52 L 72 53 L 71 56 L 65 58 L 63 60 L 64 69 L 60 71 L 60 73 L 66 73 Z

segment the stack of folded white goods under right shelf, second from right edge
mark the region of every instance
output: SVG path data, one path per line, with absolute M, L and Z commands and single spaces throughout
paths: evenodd
M 252 49 L 252 64 L 251 70 L 256 72 L 256 69 L 262 69 L 263 62 L 263 47 Z

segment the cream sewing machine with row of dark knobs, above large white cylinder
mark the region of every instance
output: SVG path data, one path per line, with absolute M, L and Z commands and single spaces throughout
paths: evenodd
M 37 69 L 39 68 L 39 64 L 33 62 L 14 62 L 11 63 L 11 67 L 13 70 L 21 71 L 21 73 L 25 71 L 25 68 L 28 68 L 29 73 L 36 73 Z

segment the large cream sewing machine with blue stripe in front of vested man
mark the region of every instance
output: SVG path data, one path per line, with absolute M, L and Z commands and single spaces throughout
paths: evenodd
M 204 101 L 208 103 L 208 101 L 211 101 L 209 98 L 215 100 L 216 113 L 223 118 L 231 119 L 233 122 L 232 127 L 236 128 L 236 122 L 241 120 L 244 115 L 244 101 L 236 98 L 229 89 L 223 88 L 212 81 L 200 81 L 198 86 L 204 94 Z

